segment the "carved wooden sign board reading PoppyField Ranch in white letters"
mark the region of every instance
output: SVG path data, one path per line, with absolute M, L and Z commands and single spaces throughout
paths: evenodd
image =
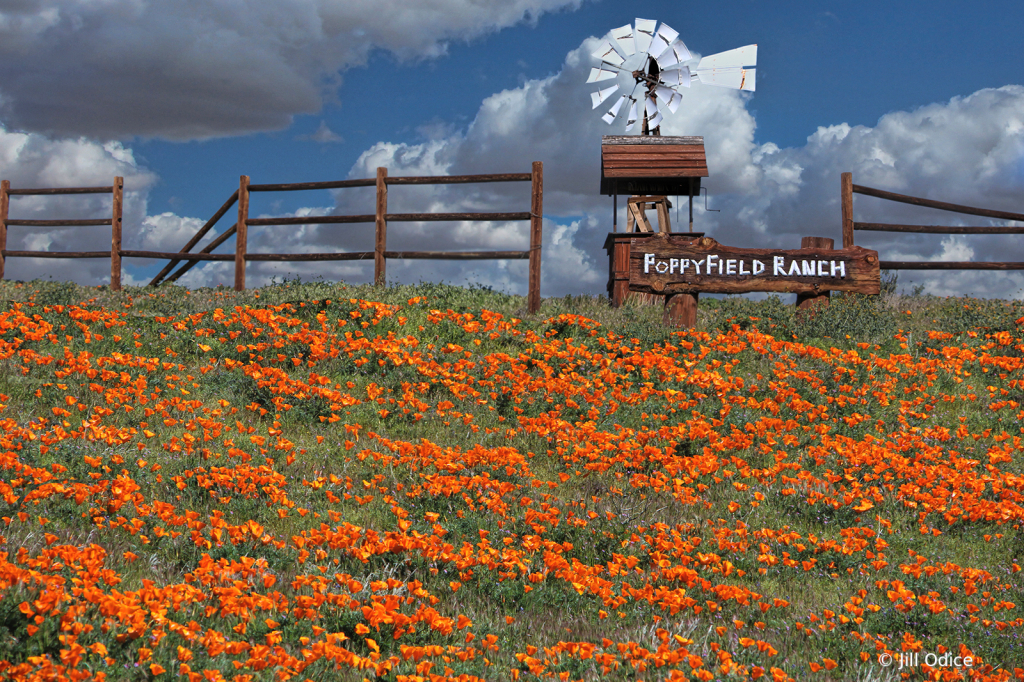
M 631 240 L 629 288 L 650 294 L 879 294 L 882 290 L 879 254 L 861 247 L 741 249 L 710 237 L 668 235 Z

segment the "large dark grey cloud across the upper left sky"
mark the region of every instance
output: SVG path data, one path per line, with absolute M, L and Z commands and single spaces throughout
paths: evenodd
M 0 7 L 0 116 L 99 139 L 278 130 L 375 49 L 434 57 L 579 2 L 20 0 Z

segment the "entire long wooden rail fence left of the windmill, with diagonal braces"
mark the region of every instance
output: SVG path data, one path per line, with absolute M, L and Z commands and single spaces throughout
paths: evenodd
M 392 184 L 459 184 L 470 182 L 521 182 L 531 183 L 529 211 L 513 213 L 388 213 L 388 186 Z M 250 218 L 249 196 L 254 191 L 294 191 L 300 189 L 338 189 L 343 187 L 377 188 L 376 212 L 366 215 L 331 215 L 301 216 L 279 218 Z M 250 184 L 249 176 L 243 175 L 239 181 L 239 189 L 207 220 L 187 244 L 178 252 L 159 251 L 126 251 L 121 249 L 121 191 L 122 178 L 115 178 L 114 187 L 74 187 L 65 189 L 9 189 L 7 180 L 3 181 L 0 190 L 0 256 L 31 256 L 41 258 L 111 258 L 111 288 L 121 288 L 121 258 L 158 258 L 169 262 L 150 282 L 156 286 L 163 281 L 175 282 L 187 272 L 199 261 L 232 261 L 234 263 L 234 289 L 246 288 L 246 261 L 329 261 L 329 260 L 369 260 L 374 259 L 374 283 L 385 283 L 385 270 L 388 258 L 432 259 L 432 260 L 498 260 L 498 259 L 528 259 L 528 293 L 527 308 L 536 312 L 541 307 L 541 236 L 542 216 L 544 214 L 544 165 L 536 161 L 529 173 L 505 173 L 488 175 L 440 175 L 440 176 L 404 176 L 388 177 L 386 168 L 377 169 L 376 178 L 353 180 L 335 180 L 328 182 L 292 182 L 286 184 Z M 114 218 L 108 220 L 11 220 L 7 218 L 7 196 L 29 194 L 85 194 L 114 191 Z M 238 204 L 239 217 L 236 223 L 208 244 L 202 251 L 190 253 L 191 249 L 213 228 L 227 212 Z M 527 251 L 388 251 L 387 225 L 389 222 L 420 222 L 443 220 L 529 220 L 529 249 Z M 373 251 L 366 252 L 329 252 L 329 253 L 249 253 L 249 227 L 264 225 L 304 225 L 304 224 L 348 224 L 374 223 L 376 238 Z M 98 225 L 112 224 L 111 251 L 106 252 L 63 252 L 51 253 L 45 251 L 7 251 L 6 225 Z M 213 250 L 234 237 L 233 254 L 215 254 Z M 177 271 L 171 273 L 178 263 L 186 261 Z M 0 258 L 0 279 L 3 278 L 3 260 Z

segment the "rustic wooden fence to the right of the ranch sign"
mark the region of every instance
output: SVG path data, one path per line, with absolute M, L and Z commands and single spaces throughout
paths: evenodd
M 877 197 L 891 202 L 925 206 L 942 211 L 978 215 L 999 220 L 1024 221 L 1024 214 L 1009 211 L 993 211 L 991 209 L 975 208 L 947 204 L 931 199 L 897 195 L 884 189 L 865 187 L 853 183 L 853 173 L 843 173 L 841 180 L 841 198 L 843 205 L 843 248 L 853 246 L 854 230 L 869 230 L 878 232 L 924 232 L 928 235 L 1024 235 L 1024 226 L 1016 225 L 901 225 L 882 222 L 854 222 L 853 195 Z M 1024 262 L 973 262 L 973 261 L 935 261 L 935 260 L 882 260 L 879 266 L 884 270 L 1024 270 Z

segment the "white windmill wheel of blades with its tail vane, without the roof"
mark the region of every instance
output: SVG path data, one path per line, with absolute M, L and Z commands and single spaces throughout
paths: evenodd
M 757 80 L 757 45 L 710 54 L 701 57 L 691 69 L 686 62 L 692 61 L 693 56 L 679 40 L 679 32 L 653 19 L 638 18 L 635 26 L 627 24 L 612 29 L 593 56 L 601 61 L 601 66 L 590 70 L 588 83 L 600 83 L 620 76 L 633 81 L 630 93 L 618 96 L 601 117 L 602 121 L 611 125 L 628 101 L 626 132 L 633 130 L 642 112 L 643 134 L 660 134 L 659 127 L 665 118 L 660 105 L 675 114 L 683 100 L 679 88 L 690 87 L 694 79 L 703 85 L 752 92 Z M 621 84 L 614 83 L 592 92 L 593 109 L 607 101 L 620 89 Z M 639 93 L 638 89 L 641 89 Z

